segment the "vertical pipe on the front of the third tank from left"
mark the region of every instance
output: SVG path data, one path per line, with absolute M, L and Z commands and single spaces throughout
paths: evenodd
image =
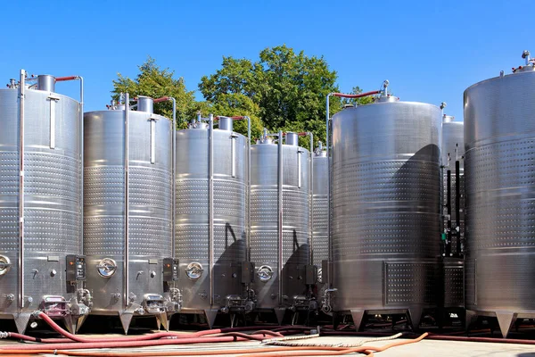
M 210 306 L 214 304 L 214 115 L 208 133 L 208 245 L 210 260 Z

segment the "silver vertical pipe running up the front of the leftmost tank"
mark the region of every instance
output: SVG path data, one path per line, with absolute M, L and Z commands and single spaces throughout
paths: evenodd
M 24 99 L 26 71 L 19 84 L 19 307 L 24 308 Z

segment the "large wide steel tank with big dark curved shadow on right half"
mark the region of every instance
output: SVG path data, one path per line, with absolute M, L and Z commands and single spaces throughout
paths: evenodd
M 384 95 L 333 116 L 334 309 L 410 312 L 436 304 L 440 109 Z

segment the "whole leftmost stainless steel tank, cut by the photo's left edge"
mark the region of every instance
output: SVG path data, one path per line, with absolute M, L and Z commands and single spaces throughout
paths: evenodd
M 71 329 L 90 303 L 80 289 L 81 104 L 55 83 L 21 71 L 0 89 L 0 318 L 20 332 L 37 310 Z

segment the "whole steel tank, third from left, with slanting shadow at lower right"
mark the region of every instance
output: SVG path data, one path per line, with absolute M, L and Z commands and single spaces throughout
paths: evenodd
M 215 313 L 226 306 L 228 295 L 243 293 L 240 264 L 247 259 L 247 138 L 233 131 L 229 118 L 219 120 L 219 128 L 212 134 L 211 157 L 207 122 L 193 122 L 176 134 L 175 241 L 182 312 L 204 311 L 210 324 Z

